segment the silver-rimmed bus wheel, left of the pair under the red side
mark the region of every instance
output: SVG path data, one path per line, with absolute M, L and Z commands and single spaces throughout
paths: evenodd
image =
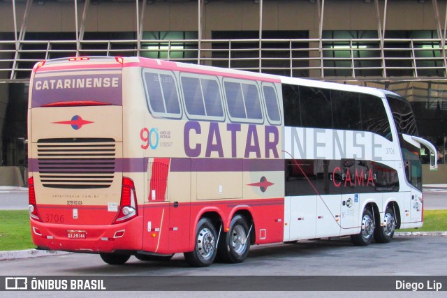
M 194 250 L 184 253 L 186 262 L 192 267 L 207 267 L 217 255 L 217 232 L 209 218 L 201 218 L 197 224 Z

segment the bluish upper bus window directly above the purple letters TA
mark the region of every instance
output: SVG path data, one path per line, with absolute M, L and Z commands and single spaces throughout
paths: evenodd
M 228 112 L 233 121 L 261 123 L 263 114 L 258 87 L 254 83 L 246 82 L 223 81 Z

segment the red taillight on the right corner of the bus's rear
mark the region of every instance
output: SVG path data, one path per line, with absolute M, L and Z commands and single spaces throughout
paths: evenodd
M 118 214 L 113 223 L 124 223 L 136 216 L 138 216 L 138 209 L 135 184 L 133 184 L 132 179 L 123 177 L 121 203 L 119 204 Z

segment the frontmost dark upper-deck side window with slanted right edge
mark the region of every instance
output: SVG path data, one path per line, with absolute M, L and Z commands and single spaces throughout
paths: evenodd
M 360 107 L 362 112 L 362 130 L 371 131 L 386 137 L 388 140 L 393 140 L 390 122 L 381 98 L 360 94 Z

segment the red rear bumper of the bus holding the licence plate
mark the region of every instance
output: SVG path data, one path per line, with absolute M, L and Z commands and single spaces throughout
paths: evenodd
M 57 225 L 31 219 L 34 244 L 50 251 L 113 253 L 142 248 L 142 216 L 116 225 Z

